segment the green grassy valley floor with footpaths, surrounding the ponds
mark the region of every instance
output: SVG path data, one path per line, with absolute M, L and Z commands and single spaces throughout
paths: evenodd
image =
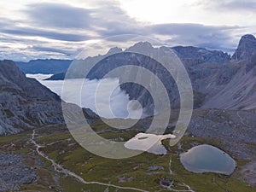
M 136 129 L 112 131 L 102 122 L 96 122 L 95 127 L 102 137 L 108 139 L 122 137 L 128 140 L 137 134 Z M 0 163 L 3 165 L 4 162 L 4 172 L 9 173 L 1 174 L 0 191 L 256 190 L 255 186 L 245 183 L 246 178 L 243 177 L 244 172 L 252 172 L 253 175 L 255 162 L 252 160 L 236 160 L 236 172 L 229 177 L 186 171 L 180 163 L 179 154 L 201 143 L 224 148 L 218 139 L 188 135 L 172 148 L 168 140 L 165 140 L 163 144 L 168 149 L 166 155 L 145 152 L 125 160 L 110 160 L 81 148 L 65 126 L 46 126 L 36 131 L 25 131 L 0 139 Z

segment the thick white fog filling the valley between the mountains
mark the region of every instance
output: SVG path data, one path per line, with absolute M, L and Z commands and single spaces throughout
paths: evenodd
M 72 102 L 82 108 L 90 108 L 95 113 L 105 118 L 131 118 L 139 119 L 143 117 L 143 108 L 131 108 L 129 96 L 125 91 L 120 90 L 118 79 L 66 79 L 65 84 L 68 83 L 68 90 L 62 96 L 63 80 L 44 80 L 51 76 L 51 74 L 26 74 L 28 78 L 38 79 L 41 84 L 47 86 L 50 90 L 61 96 L 65 102 Z M 81 96 L 78 98 L 78 90 L 76 87 L 84 81 L 81 89 Z M 100 84 L 100 89 L 99 89 Z M 98 88 L 98 89 L 97 89 Z M 110 97 L 110 99 L 109 99 Z M 110 106 L 110 108 L 109 108 Z

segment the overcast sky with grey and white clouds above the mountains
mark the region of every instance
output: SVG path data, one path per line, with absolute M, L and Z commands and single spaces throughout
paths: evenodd
M 241 35 L 256 34 L 255 0 L 8 0 L 0 6 L 0 59 L 15 61 L 72 59 L 86 44 L 122 34 L 232 53 Z

